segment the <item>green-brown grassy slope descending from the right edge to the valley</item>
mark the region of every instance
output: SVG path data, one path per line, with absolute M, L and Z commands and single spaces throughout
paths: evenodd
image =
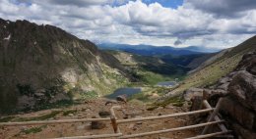
M 190 74 L 184 82 L 171 91 L 172 94 L 180 93 L 190 87 L 204 87 L 214 84 L 222 76 L 233 70 L 242 56 L 256 49 L 256 36 L 233 47 L 210 65 Z

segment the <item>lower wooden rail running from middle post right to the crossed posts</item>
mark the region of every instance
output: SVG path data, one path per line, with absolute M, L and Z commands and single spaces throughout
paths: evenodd
M 170 128 L 170 129 L 159 130 L 159 131 L 138 133 L 138 134 L 132 134 L 132 135 L 124 135 L 124 136 L 119 137 L 119 139 L 134 138 L 134 137 L 141 137 L 141 136 L 161 134 L 161 133 L 167 133 L 167 132 L 173 132 L 173 131 L 186 130 L 186 129 L 191 129 L 191 128 L 197 128 L 197 127 L 203 127 L 203 126 L 207 126 L 207 125 L 217 124 L 217 123 L 221 123 L 221 122 L 224 122 L 224 120 L 212 121 L 212 122 L 200 123 L 200 124 L 194 124 L 194 125 L 177 127 L 177 128 Z

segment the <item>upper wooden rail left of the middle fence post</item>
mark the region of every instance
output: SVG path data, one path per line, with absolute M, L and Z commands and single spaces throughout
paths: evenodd
M 62 120 L 40 120 L 40 121 L 25 121 L 25 122 L 2 122 L 2 123 L 0 122 L 0 126 L 74 123 L 74 122 L 86 122 L 86 121 L 110 121 L 110 117 L 106 117 L 106 118 L 62 119 Z

